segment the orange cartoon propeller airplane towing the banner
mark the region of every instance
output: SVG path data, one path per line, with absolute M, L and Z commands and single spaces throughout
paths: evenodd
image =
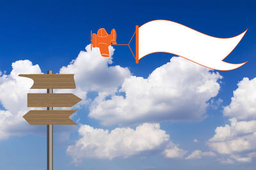
M 101 28 L 98 30 L 97 34 L 92 34 L 91 31 L 91 51 L 94 47 L 100 48 L 100 54 L 102 57 L 109 57 L 108 46 L 116 44 L 116 31 L 112 29 L 111 34 L 109 35 L 106 29 Z

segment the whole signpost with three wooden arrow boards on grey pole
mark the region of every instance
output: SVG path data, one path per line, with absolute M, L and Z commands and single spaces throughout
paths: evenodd
M 47 89 L 47 94 L 28 94 L 28 107 L 47 107 L 30 110 L 23 118 L 31 125 L 47 125 L 47 170 L 52 170 L 53 125 L 76 125 L 69 117 L 76 110 L 53 110 L 52 107 L 72 107 L 82 99 L 74 94 L 53 94 L 53 89 L 76 89 L 74 74 L 19 74 L 34 81 L 31 89 Z

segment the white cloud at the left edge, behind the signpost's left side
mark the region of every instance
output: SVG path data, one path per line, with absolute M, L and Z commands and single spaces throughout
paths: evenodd
M 19 77 L 19 74 L 40 74 L 38 65 L 33 65 L 29 60 L 13 62 L 10 74 L 0 76 L 0 102 L 5 110 L 0 110 L 0 139 L 10 135 L 20 135 L 22 132 L 33 131 L 22 116 L 29 110 L 27 108 L 27 93 L 32 92 L 30 87 L 33 80 Z M 40 90 L 33 90 L 40 92 Z

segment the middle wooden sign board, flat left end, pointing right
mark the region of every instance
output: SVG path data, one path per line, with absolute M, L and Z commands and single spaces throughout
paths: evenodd
M 81 100 L 82 99 L 71 93 L 29 93 L 28 107 L 72 107 Z

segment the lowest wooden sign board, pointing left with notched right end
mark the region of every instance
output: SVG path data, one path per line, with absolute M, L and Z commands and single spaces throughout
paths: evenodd
M 69 117 L 76 110 L 30 110 L 23 118 L 31 125 L 76 125 Z

